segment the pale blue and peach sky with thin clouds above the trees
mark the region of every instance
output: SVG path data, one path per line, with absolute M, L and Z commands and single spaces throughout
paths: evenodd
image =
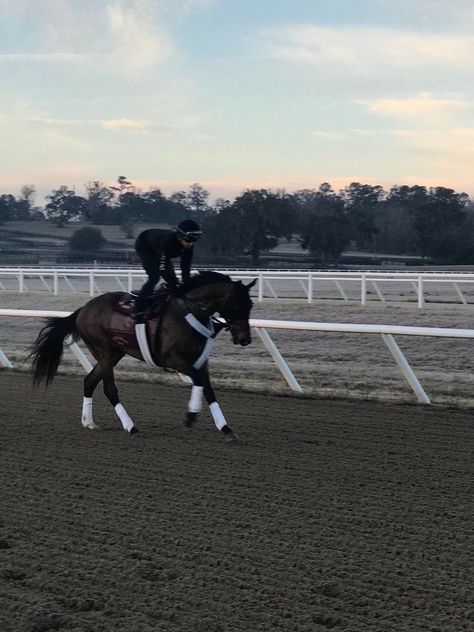
M 474 196 L 472 0 L 0 0 L 0 193 Z

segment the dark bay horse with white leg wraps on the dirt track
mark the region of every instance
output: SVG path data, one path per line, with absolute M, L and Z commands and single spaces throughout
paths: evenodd
M 50 317 L 30 349 L 33 384 L 44 380 L 47 387 L 58 371 L 66 338 L 69 342 L 82 339 L 96 361 L 84 379 L 81 417 L 84 428 L 98 427 L 92 415 L 92 395 L 102 380 L 104 394 L 124 430 L 130 435 L 140 435 L 120 402 L 114 379 L 115 365 L 130 355 L 188 376 L 192 389 L 185 425 L 192 427 L 197 421 L 204 395 L 217 429 L 226 441 L 235 441 L 238 436 L 228 425 L 211 385 L 208 355 L 214 337 L 222 328 L 230 330 L 235 345 L 251 343 L 250 289 L 256 281 L 245 285 L 218 272 L 199 272 L 167 295 L 161 314 L 151 317 L 146 324 L 136 324 L 131 314 L 133 297 L 124 292 L 101 294 L 69 316 Z M 126 311 L 124 314 L 127 305 L 128 315 Z M 221 320 L 215 319 L 216 314 Z M 113 329 L 118 321 L 122 324 Z M 152 322 L 154 329 L 149 327 Z M 137 343 L 135 330 L 140 328 L 142 340 L 148 334 L 149 347 L 146 343 L 140 346 L 140 340 Z

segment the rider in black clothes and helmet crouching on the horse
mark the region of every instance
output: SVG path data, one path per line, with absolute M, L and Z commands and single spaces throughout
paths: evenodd
M 140 233 L 135 241 L 137 253 L 148 280 L 142 286 L 135 301 L 135 315 L 146 307 L 146 299 L 160 278 L 168 287 L 174 288 L 178 279 L 172 259 L 181 258 L 181 278 L 183 283 L 189 280 L 193 260 L 194 244 L 202 236 L 202 230 L 194 220 L 185 219 L 176 230 L 150 228 Z

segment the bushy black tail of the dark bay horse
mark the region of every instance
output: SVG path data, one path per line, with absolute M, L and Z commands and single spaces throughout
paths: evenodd
M 29 355 L 32 359 L 31 371 L 35 386 L 43 380 L 46 380 L 46 386 L 52 382 L 58 372 L 66 336 L 72 336 L 73 340 L 77 340 L 79 334 L 76 329 L 76 320 L 79 311 L 80 309 L 65 318 L 60 316 L 48 318 L 46 325 L 39 332 Z

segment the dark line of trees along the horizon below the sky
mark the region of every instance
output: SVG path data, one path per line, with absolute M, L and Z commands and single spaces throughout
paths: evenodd
M 203 228 L 199 251 L 216 262 L 245 255 L 257 266 L 263 252 L 286 238 L 322 264 L 337 263 L 348 249 L 474 263 L 474 204 L 466 193 L 445 187 L 396 185 L 385 191 L 352 182 L 335 191 L 325 182 L 292 193 L 246 189 L 234 200 L 211 202 L 198 183 L 166 196 L 159 188 L 142 193 L 119 176 L 113 186 L 86 184 L 85 195 L 64 185 L 53 189 L 43 209 L 34 206 L 34 194 L 28 185 L 18 198 L 0 195 L 0 223 L 41 217 L 58 226 L 113 224 L 133 237 L 140 224 L 176 225 L 191 217 Z

